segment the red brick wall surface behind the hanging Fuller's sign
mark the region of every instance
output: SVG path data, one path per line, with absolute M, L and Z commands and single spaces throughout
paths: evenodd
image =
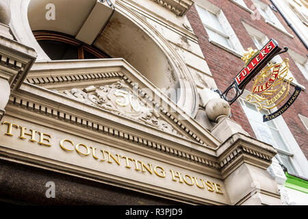
M 261 0 L 262 2 L 269 4 L 268 0 Z M 281 48 L 287 46 L 296 53 L 306 56 L 307 49 L 300 42 L 300 40 L 296 37 L 296 34 L 290 27 L 287 26 L 283 17 L 278 12 L 274 12 L 274 14 L 279 18 L 279 21 L 283 24 L 285 29 L 294 36 L 294 38 L 290 38 L 289 36 L 283 34 L 281 31 L 275 29 L 274 27 L 265 23 L 264 18 L 261 17 L 260 20 L 253 20 L 252 14 L 247 12 L 246 10 L 240 8 L 235 3 L 229 0 L 209 0 L 212 4 L 218 6 L 227 17 L 233 31 L 238 36 L 242 47 L 247 49 L 248 47 L 253 47 L 253 49 L 257 49 L 251 36 L 248 35 L 246 29 L 244 28 L 241 21 L 244 21 L 248 25 L 251 25 L 255 29 L 258 29 L 262 33 L 264 33 L 268 38 L 274 38 L 279 43 Z M 252 8 L 253 2 L 251 0 L 245 0 L 248 8 Z M 201 19 L 198 16 L 198 12 L 196 11 L 195 6 L 193 6 L 190 11 L 187 13 L 188 19 L 192 28 L 194 30 L 194 34 L 198 37 L 198 42 L 205 56 L 205 60 L 209 65 L 211 73 L 216 81 L 218 89 L 220 91 L 224 91 L 233 81 L 235 75 L 242 69 L 243 61 L 240 57 L 235 56 L 232 53 L 224 49 L 220 49 L 214 44 L 209 42 L 209 37 Z M 292 70 L 292 74 L 302 86 L 308 89 L 308 83 L 303 74 L 300 72 L 296 64 L 293 62 L 292 58 L 288 53 L 281 54 L 281 58 L 288 57 L 290 60 L 290 70 Z M 250 90 L 251 84 L 246 87 L 246 90 Z M 298 114 L 308 117 L 308 108 L 307 108 L 308 95 L 307 90 L 302 91 L 296 102 L 290 107 L 290 110 L 287 110 L 283 114 L 283 118 L 290 131 L 292 132 L 296 142 L 302 149 L 303 153 L 306 157 L 308 157 L 308 132 L 303 123 L 301 122 Z M 253 129 L 242 110 L 242 107 L 238 101 L 231 105 L 231 113 L 232 119 L 237 123 L 240 123 L 242 127 L 251 134 L 251 136 L 255 137 L 253 133 Z

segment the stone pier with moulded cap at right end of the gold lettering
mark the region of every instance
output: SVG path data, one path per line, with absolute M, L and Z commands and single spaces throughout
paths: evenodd
M 277 151 L 269 144 L 236 133 L 218 149 L 231 205 L 281 205 L 279 186 L 267 168 Z

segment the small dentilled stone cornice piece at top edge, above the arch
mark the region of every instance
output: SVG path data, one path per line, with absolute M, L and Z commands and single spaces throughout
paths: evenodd
M 194 4 L 192 0 L 151 0 L 166 8 L 177 16 L 184 16 L 190 7 Z

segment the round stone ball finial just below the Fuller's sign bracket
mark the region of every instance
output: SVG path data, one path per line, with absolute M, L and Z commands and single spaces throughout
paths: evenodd
M 219 123 L 222 118 L 230 116 L 231 107 L 227 101 L 221 98 L 214 98 L 205 106 L 205 112 L 209 120 Z

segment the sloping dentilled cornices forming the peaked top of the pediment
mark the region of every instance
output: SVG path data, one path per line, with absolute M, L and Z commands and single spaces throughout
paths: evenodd
M 170 120 L 177 127 L 179 133 L 212 148 L 216 148 L 220 144 L 219 140 L 196 123 L 193 118 L 170 101 L 166 95 L 123 59 L 40 62 L 33 66 L 26 80 L 29 83 L 53 90 L 55 88 L 51 86 L 57 86 L 61 83 L 63 86 L 75 87 L 76 83 L 87 81 L 94 83 L 94 81 L 102 82 L 105 79 L 119 78 L 124 79 L 134 90 L 138 90 L 139 95 L 155 107 L 159 114 Z M 137 87 L 136 83 L 138 84 Z M 142 90 L 143 88 L 146 88 L 146 90 L 149 88 L 153 93 L 147 94 Z M 161 103 L 158 103 L 157 99 L 160 99 Z M 170 108 L 169 110 L 165 109 L 167 105 Z

